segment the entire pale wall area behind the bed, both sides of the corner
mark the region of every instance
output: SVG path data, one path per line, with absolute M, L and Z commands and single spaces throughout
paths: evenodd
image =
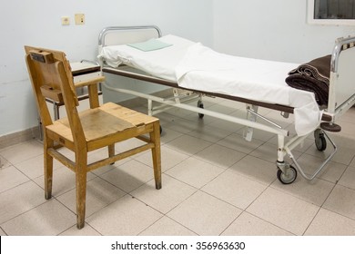
M 56 48 L 70 61 L 96 58 L 109 25 L 157 24 L 219 52 L 302 63 L 330 54 L 334 39 L 355 26 L 306 24 L 307 0 L 12 0 L 0 15 L 0 136 L 34 127 L 36 110 L 24 44 Z M 84 13 L 86 24 L 74 24 Z M 71 25 L 62 26 L 68 15 Z

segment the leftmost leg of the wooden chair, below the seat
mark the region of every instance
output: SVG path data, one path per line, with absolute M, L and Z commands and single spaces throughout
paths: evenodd
M 52 182 L 53 182 L 53 157 L 47 151 L 54 146 L 52 140 L 44 139 L 44 170 L 45 170 L 45 198 L 50 200 L 52 198 Z

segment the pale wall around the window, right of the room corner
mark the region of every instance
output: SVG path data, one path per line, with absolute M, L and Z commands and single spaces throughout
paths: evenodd
M 303 63 L 331 54 L 336 38 L 355 35 L 355 26 L 307 24 L 306 10 L 307 0 L 215 0 L 215 49 Z

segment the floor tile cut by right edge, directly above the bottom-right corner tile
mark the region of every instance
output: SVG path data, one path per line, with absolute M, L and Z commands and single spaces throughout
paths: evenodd
M 335 186 L 323 208 L 355 220 L 355 190 L 340 185 Z

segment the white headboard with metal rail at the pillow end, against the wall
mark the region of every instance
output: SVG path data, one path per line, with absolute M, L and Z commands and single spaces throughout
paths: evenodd
M 99 52 L 103 46 L 133 44 L 161 37 L 157 25 L 108 26 L 98 35 Z

